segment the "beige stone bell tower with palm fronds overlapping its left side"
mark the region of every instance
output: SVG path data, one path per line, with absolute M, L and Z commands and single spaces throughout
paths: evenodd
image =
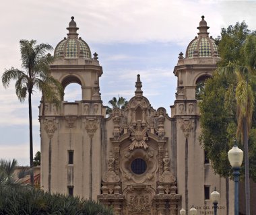
M 99 87 L 102 67 L 98 54 L 92 58 L 88 44 L 78 37 L 78 29 L 71 17 L 50 72 L 64 89 L 70 83 L 81 85 L 82 100 L 62 101 L 59 108 L 46 103 L 44 114 L 40 105 L 41 185 L 45 191 L 96 199 L 101 180 L 100 123 L 105 115 Z

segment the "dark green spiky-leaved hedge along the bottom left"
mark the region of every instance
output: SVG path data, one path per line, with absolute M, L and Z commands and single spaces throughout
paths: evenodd
M 78 197 L 51 194 L 29 187 L 0 186 L 0 214 L 113 215 L 113 209 Z

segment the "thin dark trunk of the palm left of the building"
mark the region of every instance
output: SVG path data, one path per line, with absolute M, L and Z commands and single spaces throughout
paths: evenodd
M 31 94 L 32 94 L 32 92 L 28 91 L 28 115 L 29 115 L 29 118 L 30 118 L 30 168 L 31 168 L 30 183 L 31 183 L 31 185 L 34 185 Z

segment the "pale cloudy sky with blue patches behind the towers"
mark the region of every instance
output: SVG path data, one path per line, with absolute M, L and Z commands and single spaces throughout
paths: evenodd
M 1 1 L 0 77 L 5 69 L 21 69 L 21 39 L 49 43 L 55 48 L 75 17 L 79 36 L 97 52 L 103 75 L 100 93 L 104 105 L 118 95 L 134 95 L 141 75 L 143 95 L 152 107 L 174 103 L 177 78 L 173 75 L 180 52 L 197 36 L 201 15 L 216 38 L 222 28 L 245 22 L 256 30 L 256 1 L 214 0 L 10 0 Z M 65 100 L 81 99 L 79 85 L 65 89 Z M 38 105 L 32 95 L 34 154 L 40 150 Z M 28 101 L 20 103 L 14 82 L 0 83 L 0 159 L 29 165 Z

